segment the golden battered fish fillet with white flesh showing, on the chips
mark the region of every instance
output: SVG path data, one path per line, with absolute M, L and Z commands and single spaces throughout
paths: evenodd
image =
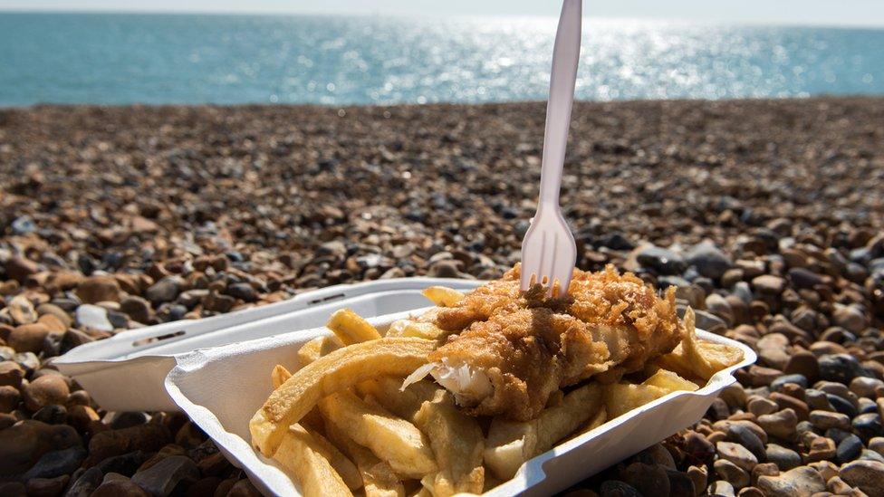
M 519 266 L 436 312 L 451 333 L 408 381 L 432 374 L 473 415 L 525 421 L 552 392 L 595 376 L 613 382 L 675 348 L 675 289 L 663 298 L 631 273 L 574 270 L 569 294 L 519 289 Z

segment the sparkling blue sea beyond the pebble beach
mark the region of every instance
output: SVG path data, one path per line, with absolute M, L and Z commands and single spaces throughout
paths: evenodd
M 0 13 L 0 106 L 543 100 L 554 18 Z M 884 29 L 584 23 L 577 98 L 884 94 Z

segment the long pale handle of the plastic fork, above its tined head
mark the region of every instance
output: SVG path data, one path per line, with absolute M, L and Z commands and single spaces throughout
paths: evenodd
M 539 207 L 559 206 L 562 167 L 565 163 L 565 147 L 568 145 L 568 129 L 571 128 L 574 85 L 577 81 L 577 62 L 580 60 L 581 11 L 581 0 L 564 0 L 559 28 L 555 33 L 550 100 L 546 104 Z

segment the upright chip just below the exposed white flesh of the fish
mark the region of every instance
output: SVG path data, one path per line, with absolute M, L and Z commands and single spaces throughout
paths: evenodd
M 433 400 L 420 406 L 414 422 L 429 438 L 440 468 L 431 478 L 429 489 L 433 495 L 481 493 L 485 482 L 485 436 L 476 418 L 460 412 L 451 394 L 439 390 Z

